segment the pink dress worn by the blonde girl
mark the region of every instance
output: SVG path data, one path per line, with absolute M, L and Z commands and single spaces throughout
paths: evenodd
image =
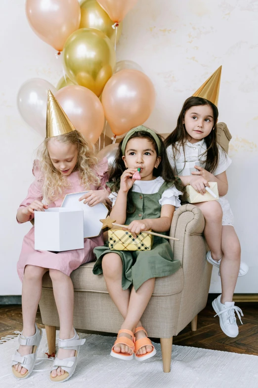
M 36 163 L 35 163 L 36 162 Z M 38 161 L 34 162 L 33 174 L 35 176 L 35 181 L 30 185 L 28 190 L 28 195 L 25 200 L 20 204 L 21 207 L 26 207 L 30 205 L 33 201 L 43 200 L 42 195 L 42 186 L 43 179 L 38 168 Z M 95 169 L 96 174 L 100 177 L 101 183 L 100 187 L 90 186 L 90 190 L 100 190 L 106 188 L 109 190 L 105 183 L 108 181 L 107 178 L 107 169 L 108 162 L 107 159 L 103 159 Z M 48 204 L 49 208 L 60 207 L 62 201 L 66 194 L 77 193 L 80 191 L 85 191 L 85 187 L 81 186 L 80 177 L 78 171 L 72 172 L 67 177 L 70 186 L 65 188 L 65 191 L 62 193 L 62 198 L 55 200 Z M 109 190 L 110 191 L 110 190 Z M 33 218 L 33 217 L 32 217 Z M 59 270 L 70 276 L 71 272 L 76 270 L 84 263 L 95 260 L 93 255 L 93 248 L 97 246 L 104 245 L 103 233 L 98 237 L 85 238 L 84 239 L 84 249 L 76 249 L 73 251 L 64 251 L 64 252 L 48 252 L 48 251 L 37 251 L 34 249 L 34 226 L 26 234 L 23 239 L 22 250 L 17 263 L 18 275 L 22 281 L 24 269 L 26 265 L 33 265 L 43 268 L 51 268 L 54 270 Z

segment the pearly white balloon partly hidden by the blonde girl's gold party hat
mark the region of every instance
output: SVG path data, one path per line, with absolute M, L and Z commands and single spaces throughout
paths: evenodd
M 45 137 L 47 91 L 56 93 L 56 88 L 42 78 L 32 78 L 24 82 L 17 96 L 18 110 L 33 129 Z

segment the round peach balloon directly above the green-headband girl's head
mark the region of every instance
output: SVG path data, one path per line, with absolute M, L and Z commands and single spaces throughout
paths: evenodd
M 101 102 L 112 132 L 122 135 L 150 116 L 155 106 L 155 89 L 146 74 L 125 69 L 106 83 Z

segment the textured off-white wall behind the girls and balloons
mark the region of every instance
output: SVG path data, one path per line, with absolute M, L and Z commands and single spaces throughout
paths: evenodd
M 117 59 L 139 63 L 157 92 L 147 124 L 171 132 L 183 101 L 222 64 L 219 121 L 233 136 L 228 169 L 228 198 L 250 272 L 236 292 L 258 292 L 258 1 L 139 0 L 124 21 Z M 1 273 L 0 295 L 19 294 L 16 275 L 23 235 L 30 225 L 15 222 L 16 209 L 32 180 L 34 150 L 42 138 L 28 128 L 16 108 L 16 95 L 27 79 L 56 85 L 61 58 L 30 29 L 24 1 L 0 1 L 1 26 Z M 219 292 L 214 272 L 211 292 Z

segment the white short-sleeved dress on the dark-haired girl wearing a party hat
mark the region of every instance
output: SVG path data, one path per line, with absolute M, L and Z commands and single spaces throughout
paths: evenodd
M 191 175 L 192 171 L 196 171 L 194 166 L 201 166 L 204 167 L 204 161 L 206 159 L 206 143 L 205 140 L 201 140 L 198 143 L 192 144 L 190 142 L 186 142 L 184 146 L 178 147 L 179 152 L 175 155 L 175 162 L 173 157 L 173 151 L 172 146 L 169 146 L 167 148 L 167 153 L 169 157 L 170 164 L 172 168 L 174 168 L 176 174 L 178 176 L 189 176 Z M 219 160 L 218 165 L 215 171 L 213 172 L 213 175 L 219 175 L 222 172 L 226 171 L 226 169 L 231 165 L 232 161 L 228 157 L 228 155 L 222 150 L 222 148 L 218 145 L 219 150 Z M 223 217 L 222 217 L 222 225 L 234 225 L 234 216 L 230 209 L 229 202 L 226 198 L 226 196 L 219 197 L 218 202 L 221 205 L 222 211 L 223 211 Z

